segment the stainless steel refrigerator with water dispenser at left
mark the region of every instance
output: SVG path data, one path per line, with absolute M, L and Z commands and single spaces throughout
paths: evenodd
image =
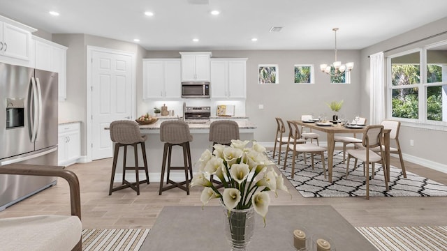
M 0 63 L 0 165 L 57 165 L 57 73 Z M 55 177 L 0 174 L 0 211 Z

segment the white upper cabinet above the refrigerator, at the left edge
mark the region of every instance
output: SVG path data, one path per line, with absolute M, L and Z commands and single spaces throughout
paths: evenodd
M 0 16 L 0 61 L 29 66 L 33 31 L 36 29 Z

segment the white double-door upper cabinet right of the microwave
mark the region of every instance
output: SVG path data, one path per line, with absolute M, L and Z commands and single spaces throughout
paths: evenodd
M 247 59 L 211 59 L 211 98 L 246 98 Z

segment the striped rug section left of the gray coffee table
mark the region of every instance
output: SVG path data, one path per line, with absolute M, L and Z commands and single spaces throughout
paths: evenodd
M 149 229 L 84 229 L 82 250 L 140 250 Z

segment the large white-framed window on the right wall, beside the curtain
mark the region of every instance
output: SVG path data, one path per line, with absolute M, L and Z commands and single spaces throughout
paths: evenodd
M 447 126 L 447 41 L 388 56 L 388 116 Z

